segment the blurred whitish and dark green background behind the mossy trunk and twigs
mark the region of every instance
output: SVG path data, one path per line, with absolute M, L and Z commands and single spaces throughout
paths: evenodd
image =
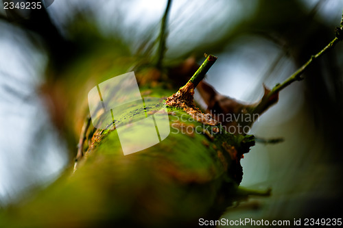
M 56 0 L 29 19 L 34 23 L 8 21 L 1 5 L 0 206 L 71 166 L 87 102 L 82 77 L 108 66 L 121 72 L 132 56 L 154 53 L 166 4 Z M 193 56 L 200 64 L 204 53 L 217 55 L 206 81 L 253 103 L 263 84 L 272 88 L 285 80 L 333 40 L 342 10 L 341 0 L 174 0 L 165 62 Z M 116 62 L 114 55 L 123 57 Z M 73 68 L 82 61 L 92 67 L 88 76 Z M 342 216 L 342 63 L 340 43 L 255 123 L 251 134 L 285 141 L 252 148 L 241 161 L 241 186 L 271 187 L 272 196 L 229 208 L 225 218 Z

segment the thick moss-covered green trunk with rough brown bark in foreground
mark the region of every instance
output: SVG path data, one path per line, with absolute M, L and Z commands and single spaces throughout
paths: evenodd
M 177 90 L 165 77 L 168 73 L 141 68 L 136 74 L 147 101 L 163 101 Z M 188 106 L 193 93 L 187 99 L 185 103 L 174 96 L 185 107 L 167 106 L 171 132 L 165 140 L 130 155 L 123 155 L 117 129 L 95 129 L 90 123 L 74 173 L 32 201 L 8 208 L 1 214 L 1 225 L 193 227 L 199 218 L 219 218 L 233 201 L 252 193 L 237 190 L 243 175 L 239 161 L 255 141 L 253 136 L 226 133 L 216 121 L 196 118 Z M 156 109 L 156 103 L 145 103 L 145 109 Z M 123 110 L 123 119 L 143 112 L 131 107 Z M 136 142 L 133 134 L 132 144 Z

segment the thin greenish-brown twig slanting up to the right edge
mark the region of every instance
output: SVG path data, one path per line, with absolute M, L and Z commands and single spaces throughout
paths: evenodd
M 289 76 L 285 81 L 283 81 L 283 83 L 276 84 L 276 86 L 274 86 L 274 88 L 272 88 L 272 90 L 270 90 L 267 94 L 265 94 L 263 96 L 261 102 L 259 102 L 258 105 L 253 107 L 252 110 L 250 110 L 250 112 L 261 114 L 262 112 L 267 110 L 271 105 L 276 103 L 276 102 L 273 102 L 273 103 L 270 102 L 273 97 L 277 97 L 281 90 L 283 90 L 284 88 L 286 88 L 287 86 L 292 84 L 294 81 L 303 80 L 304 78 L 301 77 L 301 75 L 303 75 L 305 70 L 307 70 L 307 68 L 309 68 L 309 66 L 311 66 L 311 64 L 314 62 L 314 60 L 316 60 L 317 58 L 320 58 L 321 55 L 323 55 L 324 53 L 327 53 L 327 51 L 333 49 L 333 47 L 335 47 L 335 45 L 338 42 L 343 40 L 343 14 L 342 14 L 341 27 L 337 27 L 335 29 L 335 36 L 336 37 L 331 42 L 329 42 L 329 45 L 324 47 L 324 49 L 319 51 L 316 55 L 312 55 L 311 58 L 305 64 L 303 64 L 303 66 L 298 68 L 298 70 L 295 73 L 293 73 L 293 75 Z

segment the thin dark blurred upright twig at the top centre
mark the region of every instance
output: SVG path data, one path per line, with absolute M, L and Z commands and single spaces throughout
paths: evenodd
M 165 41 L 167 40 L 167 18 L 170 11 L 171 0 L 168 0 L 167 7 L 165 8 L 165 14 L 163 14 L 163 18 L 161 21 L 161 30 L 160 35 L 158 36 L 158 49 L 156 53 L 156 67 L 161 68 L 162 61 L 165 55 Z

